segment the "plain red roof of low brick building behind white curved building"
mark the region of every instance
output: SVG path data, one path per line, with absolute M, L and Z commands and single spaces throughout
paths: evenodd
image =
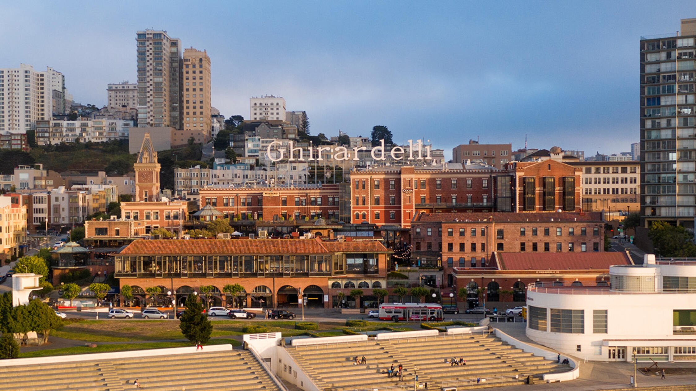
M 624 252 L 493 253 L 500 270 L 608 270 L 611 265 L 633 265 Z

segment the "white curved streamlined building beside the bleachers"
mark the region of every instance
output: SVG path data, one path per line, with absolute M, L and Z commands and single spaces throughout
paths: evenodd
M 609 272 L 610 287 L 529 285 L 527 336 L 587 360 L 696 360 L 696 259 Z

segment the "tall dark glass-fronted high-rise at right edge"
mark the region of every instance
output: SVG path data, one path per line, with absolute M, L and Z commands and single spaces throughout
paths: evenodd
M 640 206 L 644 224 L 693 228 L 696 215 L 696 19 L 640 40 Z

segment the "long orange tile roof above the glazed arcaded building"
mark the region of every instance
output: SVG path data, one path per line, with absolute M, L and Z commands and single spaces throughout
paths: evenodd
M 380 242 L 322 242 L 310 239 L 134 240 L 122 255 L 266 255 L 388 251 Z

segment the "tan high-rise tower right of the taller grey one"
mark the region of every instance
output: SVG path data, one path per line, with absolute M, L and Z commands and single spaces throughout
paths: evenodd
M 210 135 L 210 58 L 204 51 L 184 49 L 182 129 Z

